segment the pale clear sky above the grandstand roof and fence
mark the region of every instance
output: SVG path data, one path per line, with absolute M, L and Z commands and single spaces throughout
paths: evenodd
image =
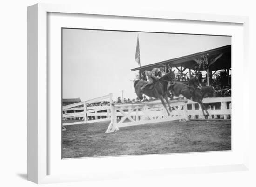
M 113 93 L 136 98 L 133 79 L 137 36 L 141 66 L 230 45 L 231 37 L 63 29 L 63 98 L 82 101 Z

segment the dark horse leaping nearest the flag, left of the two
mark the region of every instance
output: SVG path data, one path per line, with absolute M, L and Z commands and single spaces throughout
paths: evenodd
M 147 84 L 147 81 L 140 81 L 140 80 L 136 80 L 134 82 L 134 88 L 135 88 L 135 92 L 137 94 L 137 96 L 139 97 L 140 100 L 143 99 L 142 95 L 145 94 L 149 97 L 155 97 L 155 98 L 160 98 L 164 108 L 166 109 L 168 116 L 170 116 L 170 113 L 166 107 L 166 104 L 164 102 L 164 99 L 166 100 L 168 106 L 169 106 L 169 110 L 170 112 L 172 112 L 170 103 L 168 101 L 168 89 L 167 89 L 167 85 L 169 82 L 171 82 L 173 79 L 175 79 L 175 74 L 172 71 L 169 71 L 168 73 L 166 73 L 164 76 L 162 76 L 160 78 L 160 80 L 156 80 L 153 84 L 146 86 L 143 93 L 141 92 L 141 87 L 144 84 Z M 153 86 L 153 89 L 150 89 L 150 87 Z

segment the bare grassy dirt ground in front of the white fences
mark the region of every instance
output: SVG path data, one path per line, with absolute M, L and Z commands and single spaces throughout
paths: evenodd
M 152 123 L 106 134 L 108 124 L 65 126 L 62 158 L 231 150 L 231 121 Z

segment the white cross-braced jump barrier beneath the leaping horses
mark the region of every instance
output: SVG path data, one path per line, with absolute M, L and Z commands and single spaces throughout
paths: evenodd
M 167 115 L 161 102 L 148 103 L 111 103 L 111 122 L 106 133 L 118 131 L 120 127 L 159 123 L 173 120 L 188 120 L 187 100 L 171 101 L 174 109 Z M 118 120 L 118 117 L 121 117 Z

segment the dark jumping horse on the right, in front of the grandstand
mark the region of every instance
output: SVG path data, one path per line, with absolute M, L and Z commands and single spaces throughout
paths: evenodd
M 201 109 L 202 109 L 203 116 L 205 117 L 205 119 L 207 119 L 207 116 L 209 116 L 209 113 L 206 110 L 204 104 L 202 103 L 202 99 L 205 96 L 205 94 L 207 94 L 207 93 L 213 94 L 215 92 L 213 87 L 202 86 L 201 91 L 199 89 L 195 89 L 193 96 L 191 94 L 189 86 L 186 84 L 183 84 L 183 83 L 175 83 L 175 84 L 171 85 L 168 88 L 168 90 L 170 90 L 172 93 L 172 99 L 173 99 L 173 96 L 183 95 L 187 99 L 190 99 L 192 101 L 199 103 L 201 106 Z M 206 111 L 207 115 L 205 115 L 204 110 Z

